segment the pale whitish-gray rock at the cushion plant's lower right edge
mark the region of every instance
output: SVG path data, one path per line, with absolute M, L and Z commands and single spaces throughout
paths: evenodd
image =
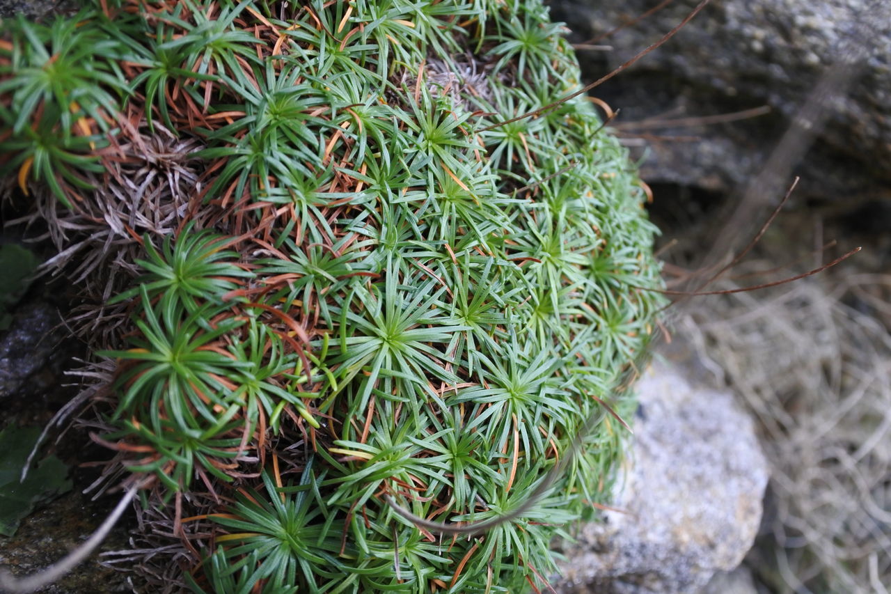
M 580 527 L 559 592 L 696 592 L 740 565 L 755 540 L 768 469 L 751 419 L 731 394 L 693 386 L 665 364 L 639 392 L 614 499 L 622 511 Z

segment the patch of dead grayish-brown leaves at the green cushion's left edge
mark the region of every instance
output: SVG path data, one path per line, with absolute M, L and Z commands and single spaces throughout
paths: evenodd
M 34 192 L 33 208 L 7 226 L 32 229 L 29 242 L 49 240 L 58 251 L 41 266 L 44 274 L 62 275 L 83 289 L 83 302 L 68 317 L 69 327 L 86 342 L 120 346 L 127 303 L 107 301 L 133 282 L 135 260 L 143 257 L 145 233 L 166 236 L 183 224 L 200 194 L 203 166 L 194 153 L 204 147 L 194 138 L 177 138 L 155 123 L 132 115 L 119 120 L 121 132 L 101 153 L 105 171 L 86 172 L 96 188 L 69 209 L 45 188 Z

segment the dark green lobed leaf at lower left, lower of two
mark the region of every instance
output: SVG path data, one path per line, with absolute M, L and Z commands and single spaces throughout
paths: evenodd
M 68 466 L 47 456 L 20 482 L 21 469 L 37 443 L 37 427 L 10 426 L 0 431 L 0 534 L 12 536 L 35 507 L 71 489 Z

